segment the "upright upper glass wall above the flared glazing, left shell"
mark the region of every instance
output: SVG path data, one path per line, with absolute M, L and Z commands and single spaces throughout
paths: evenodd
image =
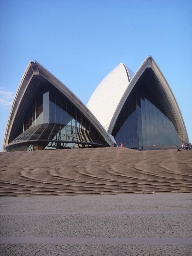
M 75 126 L 100 137 L 99 132 L 84 115 L 51 84 L 41 85 L 20 123 L 15 138 L 30 127 L 47 123 Z

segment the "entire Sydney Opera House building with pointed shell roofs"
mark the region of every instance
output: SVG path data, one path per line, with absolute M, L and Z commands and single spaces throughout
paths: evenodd
M 134 74 L 114 68 L 87 107 L 37 61 L 29 62 L 8 118 L 4 151 L 168 147 L 188 142 L 179 106 L 151 56 Z

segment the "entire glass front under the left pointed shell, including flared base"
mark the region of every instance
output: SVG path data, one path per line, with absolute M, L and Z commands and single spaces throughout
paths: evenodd
M 39 84 L 14 139 L 13 150 L 107 147 L 108 144 L 85 116 L 52 84 Z

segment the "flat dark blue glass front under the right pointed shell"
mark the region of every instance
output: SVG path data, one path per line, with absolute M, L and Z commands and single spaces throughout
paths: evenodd
M 127 148 L 181 146 L 179 132 L 168 114 L 173 111 L 171 105 L 167 107 L 156 81 L 145 78 L 138 80 L 125 101 L 112 135 L 118 146 L 122 142 Z

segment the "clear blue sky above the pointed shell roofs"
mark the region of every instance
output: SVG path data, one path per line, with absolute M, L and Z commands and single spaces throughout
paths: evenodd
M 86 105 L 119 63 L 136 72 L 148 55 L 171 86 L 192 142 L 191 0 L 0 0 L 0 147 L 29 60 Z

